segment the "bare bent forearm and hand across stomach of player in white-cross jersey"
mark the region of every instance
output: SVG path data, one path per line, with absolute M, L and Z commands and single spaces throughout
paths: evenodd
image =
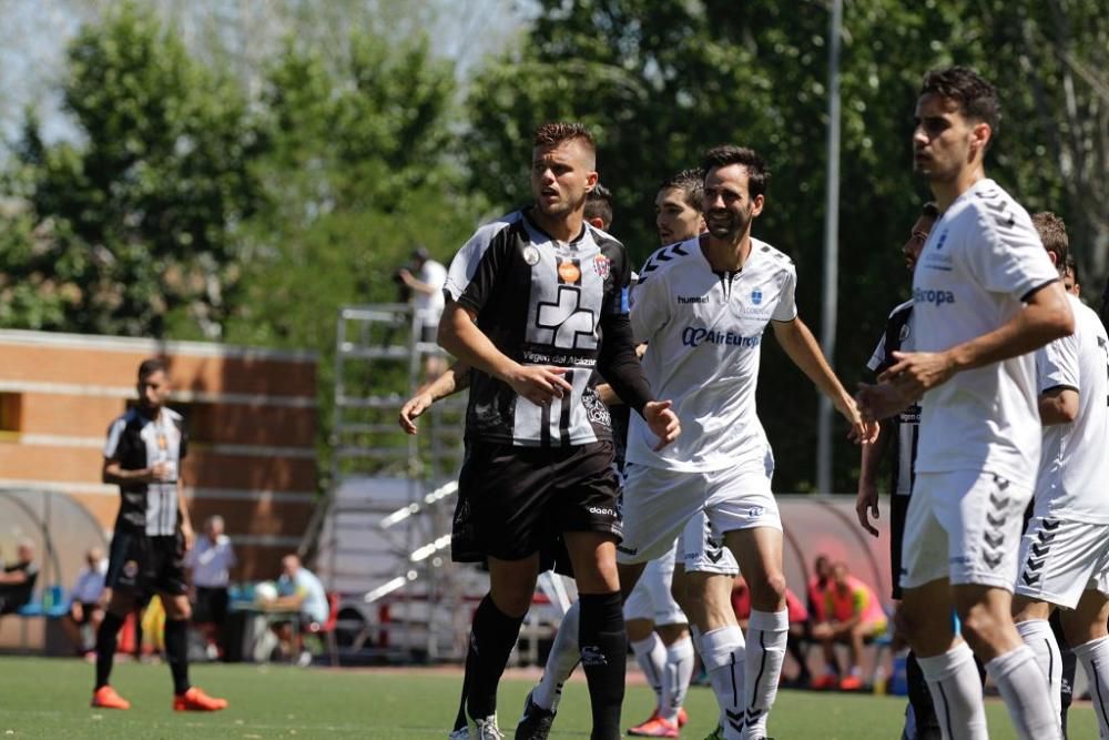
M 506 356 L 478 328 L 469 311 L 448 301 L 439 320 L 439 346 L 470 367 L 507 383 L 512 391 L 537 406 L 573 391 L 562 377 L 562 367 L 521 365 Z

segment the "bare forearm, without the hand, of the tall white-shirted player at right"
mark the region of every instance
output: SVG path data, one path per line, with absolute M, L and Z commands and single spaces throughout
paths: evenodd
M 1070 335 L 1075 317 L 1058 283 L 1047 285 L 1013 318 L 945 352 L 956 373 L 1017 357 Z

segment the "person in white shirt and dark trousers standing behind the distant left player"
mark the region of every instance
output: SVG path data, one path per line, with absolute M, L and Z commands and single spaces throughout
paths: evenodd
M 203 633 L 210 659 L 223 655 L 224 625 L 227 621 L 227 585 L 231 569 L 238 562 L 231 538 L 223 534 L 222 516 L 208 517 L 204 533 L 196 538 L 185 556 L 185 567 L 192 572 L 195 589 L 193 625 Z

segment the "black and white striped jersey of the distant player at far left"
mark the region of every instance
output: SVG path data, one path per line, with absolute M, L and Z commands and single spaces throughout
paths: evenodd
M 115 531 L 145 534 L 152 537 L 177 530 L 177 475 L 189 446 L 181 414 L 162 408 L 156 419 L 140 408 L 129 408 L 108 428 L 104 458 L 115 460 L 124 470 L 141 470 L 165 463 L 172 479 L 164 483 L 130 483 L 120 486 L 120 513 Z

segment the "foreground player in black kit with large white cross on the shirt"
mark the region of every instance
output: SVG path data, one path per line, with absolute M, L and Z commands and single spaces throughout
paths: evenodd
M 447 278 L 439 343 L 471 368 L 451 555 L 485 558 L 490 570 L 467 656 L 470 740 L 500 737 L 497 685 L 552 533 L 563 537 L 581 595 L 593 737 L 620 734 L 627 637 L 614 568 L 617 480 L 609 416 L 590 372 L 648 419 L 655 444 L 674 439 L 679 425 L 669 403 L 653 401 L 635 356 L 623 245 L 583 222 L 596 183 L 589 132 L 540 126 L 535 205 L 479 229 Z

